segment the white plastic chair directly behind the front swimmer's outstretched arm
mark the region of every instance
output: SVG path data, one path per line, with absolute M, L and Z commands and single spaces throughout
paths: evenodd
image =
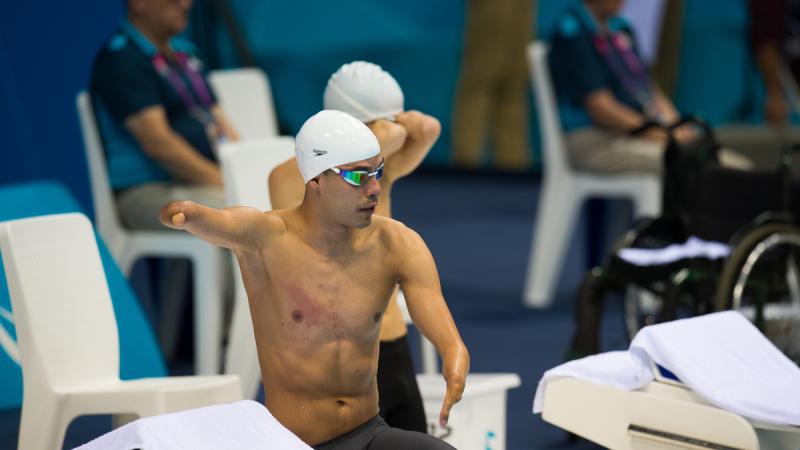
M 273 137 L 226 143 L 220 146 L 225 196 L 230 205 L 269 211 L 267 179 L 275 166 L 294 157 L 294 138 Z M 239 375 L 246 398 L 256 398 L 261 386 L 253 321 L 238 262 L 234 258 L 234 306 L 228 334 L 225 373 Z

